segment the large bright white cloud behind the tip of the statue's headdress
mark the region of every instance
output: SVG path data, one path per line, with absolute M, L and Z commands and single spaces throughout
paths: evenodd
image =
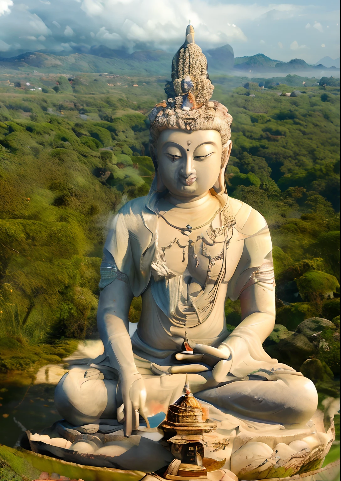
M 240 4 L 226 5 L 198 0 L 83 0 L 81 9 L 92 20 L 101 22 L 109 33 L 117 33 L 127 46 L 136 42 L 153 43 L 169 49 L 184 41 L 184 29 L 191 19 L 196 41 L 210 47 L 231 41 L 247 41 L 240 25 L 245 19 L 266 12 L 257 5 L 245 9 Z M 231 18 L 231 22 L 226 22 Z

